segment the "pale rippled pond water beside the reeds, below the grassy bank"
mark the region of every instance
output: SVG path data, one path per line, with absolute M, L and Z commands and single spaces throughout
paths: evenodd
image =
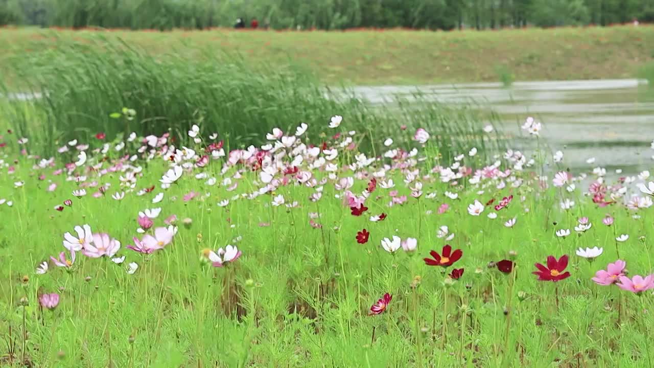
M 644 98 L 645 84 L 636 79 L 613 79 L 525 82 L 510 88 L 498 83 L 360 86 L 354 92 L 371 103 L 385 103 L 398 95 L 411 100 L 417 92 L 422 98 L 455 105 L 472 101 L 481 109 L 496 112 L 498 131 L 515 138 L 516 147 L 525 151 L 533 147 L 534 139 L 521 132 L 520 125 L 531 115 L 543 123 L 543 141 L 553 150 L 564 151 L 564 162 L 572 170 L 603 166 L 635 174 L 649 170 L 654 155 L 650 148 L 654 101 Z M 592 165 L 586 162 L 591 157 L 596 159 Z

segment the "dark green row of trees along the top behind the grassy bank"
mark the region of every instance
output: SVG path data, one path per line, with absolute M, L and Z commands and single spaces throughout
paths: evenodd
M 654 22 L 654 0 L 0 0 L 0 25 L 494 29 Z

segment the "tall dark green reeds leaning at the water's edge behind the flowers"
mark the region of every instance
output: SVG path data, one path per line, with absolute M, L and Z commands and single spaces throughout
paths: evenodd
M 326 120 L 342 115 L 349 126 L 368 132 L 362 147 L 371 148 L 399 128 L 426 128 L 436 136 L 441 153 L 458 150 L 460 142 L 487 142 L 477 134 L 479 117 L 472 110 L 451 109 L 422 101 L 420 109 L 396 100 L 373 107 L 345 88 L 326 88 L 305 69 L 289 63 L 252 67 L 237 54 L 204 50 L 189 62 L 174 50 L 151 56 L 126 43 L 98 36 L 88 44 L 43 42 L 41 52 L 10 56 L 3 75 L 5 94 L 20 90 L 42 98 L 5 103 L 6 120 L 25 136 L 43 143 L 43 153 L 67 139 L 137 132 L 186 137 L 194 123 L 218 132 L 226 143 L 262 143 L 262 133 L 317 123 L 329 134 Z M 0 82 L 1 83 L 1 82 Z M 9 87 L 9 85 L 11 87 Z M 420 96 L 413 96 L 420 100 Z M 123 107 L 136 119 L 112 119 Z M 235 147 L 232 147 L 235 148 Z

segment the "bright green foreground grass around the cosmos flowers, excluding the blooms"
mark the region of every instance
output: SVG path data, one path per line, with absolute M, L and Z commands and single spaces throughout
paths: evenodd
M 347 119 L 332 132 L 352 130 Z M 320 144 L 321 124 L 326 123 L 309 124 L 303 143 Z M 192 146 L 198 153 L 211 134 L 203 124 L 201 129 L 206 140 Z M 354 141 L 363 134 L 358 132 Z M 253 172 L 251 164 L 230 166 L 225 158 L 183 174 L 170 189 L 160 189 L 158 182 L 169 168 L 165 156 L 124 162 L 117 172 L 103 171 L 117 164 L 118 156 L 135 153 L 140 139 L 122 152 L 110 149 L 105 155 L 92 153 L 102 142 L 80 136 L 78 143 L 91 145 L 88 161 L 73 172 L 54 175 L 63 164 L 77 160 L 77 154 L 56 155 L 53 166 L 39 168 L 35 166 L 39 160 L 20 155 L 16 134 L 3 135 L 0 141 L 9 145 L 0 149 L 4 155 L 0 199 L 13 204 L 0 205 L 0 335 L 8 346 L 0 352 L 9 367 L 22 366 L 22 359 L 38 367 L 607 367 L 617 361 L 623 367 L 647 367 L 654 354 L 651 291 L 637 297 L 590 280 L 596 270 L 618 258 L 617 251 L 627 261 L 630 276 L 652 272 L 651 208 L 639 210 L 640 218 L 632 217 L 634 212 L 621 204 L 622 199 L 598 208 L 583 196 L 581 183 L 572 193 L 553 187 L 543 190 L 534 179 L 538 166 L 513 170 L 513 164 L 500 160 L 500 170 L 513 170 L 510 179 L 521 185 L 500 177 L 476 184 L 470 177 L 445 183 L 432 168 L 453 161 L 438 158 L 438 144 L 409 143 L 413 130 L 398 130 L 385 150 L 415 147 L 415 158 L 381 158 L 369 167 L 358 167 L 357 175 L 363 178 L 354 179 L 351 190 L 362 193 L 369 181 L 366 174 L 379 174 L 384 164 L 395 164 L 385 169 L 385 179 L 394 179 L 393 189 L 407 201 L 389 206 L 392 189 L 381 188 L 379 178 L 366 200 L 368 212 L 355 217 L 335 197 L 343 195 L 336 188 L 338 180 L 328 178 L 327 171 L 309 168 L 313 158 L 306 155 L 301 170 L 311 172 L 317 181 L 326 179 L 318 202 L 309 200 L 317 189 L 296 185 L 295 179 L 274 193 L 243 198 L 241 194 L 263 186 L 260 170 Z M 328 146 L 338 147 L 344 137 L 326 139 Z M 112 141 L 111 147 L 116 143 Z M 31 151 L 31 144 L 22 148 Z M 356 151 L 337 150 L 332 161 L 337 167 L 345 169 L 354 162 Z M 551 156 L 538 154 L 539 165 L 543 157 Z M 277 162 L 286 165 L 291 159 Z M 479 156 L 465 156 L 460 164 L 485 166 Z M 92 165 L 95 170 L 88 170 Z M 419 170 L 409 185 L 404 183 L 407 170 L 400 169 L 405 165 Z M 120 181 L 129 172 L 140 172 L 133 189 Z M 196 179 L 200 172 L 207 177 Z M 86 176 L 82 185 L 88 186 L 88 194 L 79 199 L 71 192 L 82 185 L 67 180 L 77 175 Z M 337 178 L 353 175 L 349 170 L 336 173 Z M 276 176 L 282 179 L 283 174 Z M 217 179 L 216 185 L 206 183 L 210 177 Z M 24 185 L 17 187 L 21 181 Z M 416 181 L 424 184 L 419 199 L 409 189 Z M 502 182 L 506 188 L 496 189 Z M 547 182 L 551 186 L 551 179 Z M 58 187 L 48 192 L 52 183 Z M 105 196 L 94 198 L 99 190 L 94 185 L 103 185 Z M 154 191 L 137 196 L 151 185 Z M 111 198 L 120 191 L 126 192 L 123 200 Z M 182 196 L 191 191 L 199 196 L 184 202 Z M 445 191 L 458 193 L 458 199 L 447 198 Z M 158 193 L 164 193 L 163 200 L 153 204 Z M 491 206 L 481 216 L 468 214 L 473 200 L 485 203 L 496 198 L 497 204 L 509 194 L 513 202 L 498 211 L 497 219 L 487 217 Z M 297 206 L 271 206 L 278 195 Z M 54 210 L 69 198 L 71 207 Z M 576 202 L 572 210 L 560 210 L 564 198 Z M 230 199 L 226 207 L 216 205 L 226 199 Z M 439 214 L 444 203 L 450 208 Z M 155 207 L 162 208 L 155 227 L 177 215 L 179 232 L 173 243 L 146 256 L 126 249 L 134 236 L 141 237 L 136 232 L 137 213 Z M 315 212 L 322 229 L 309 224 L 309 214 Z M 382 212 L 388 215 L 384 221 L 370 221 L 370 215 Z M 615 217 L 612 227 L 602 225 L 607 213 Z M 572 228 L 581 216 L 589 217 L 593 227 L 576 234 Z M 516 225 L 504 227 L 512 217 L 517 218 Z M 186 218 L 190 220 L 182 221 Z M 50 262 L 46 274 L 35 275 L 39 263 L 65 250 L 63 234 L 84 223 L 120 240 L 118 254 L 126 255 L 125 263 L 78 253 L 71 272 Z M 455 237 L 438 238 L 441 225 L 449 226 Z M 362 229 L 370 231 L 367 244 L 354 239 Z M 571 229 L 573 234 L 557 238 L 559 229 Z M 630 238 L 617 243 L 613 239 L 619 234 Z M 381 240 L 393 235 L 417 238 L 415 253 L 382 249 Z M 430 249 L 440 252 L 446 243 L 463 251 L 455 267 L 465 272 L 456 282 L 447 281 L 444 268 L 422 261 Z M 203 261 L 203 249 L 227 244 L 238 246 L 241 258 L 222 268 Z M 576 248 L 586 246 L 601 246 L 604 254 L 593 264 L 574 255 Z M 491 261 L 508 258 L 510 251 L 515 251 L 517 265 L 511 274 L 489 267 Z M 539 282 L 531 274 L 534 263 L 563 254 L 570 255 L 566 269 L 570 278 Z M 131 262 L 139 265 L 134 274 L 126 272 L 125 265 Z M 37 295 L 55 292 L 61 295 L 58 308 L 39 308 Z M 371 304 L 387 292 L 393 297 L 388 309 L 368 316 Z

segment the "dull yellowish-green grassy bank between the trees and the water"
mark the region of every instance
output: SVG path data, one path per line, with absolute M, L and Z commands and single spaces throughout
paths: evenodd
M 3 29 L 0 70 L 12 54 L 29 56 L 70 44 L 120 38 L 161 56 L 210 60 L 239 52 L 250 65 L 302 64 L 328 84 L 428 84 L 498 81 L 506 65 L 516 81 L 634 77 L 654 60 L 653 26 L 502 31 L 41 31 Z M 207 56 L 208 54 L 208 56 Z M 107 56 L 111 57 L 111 56 Z

